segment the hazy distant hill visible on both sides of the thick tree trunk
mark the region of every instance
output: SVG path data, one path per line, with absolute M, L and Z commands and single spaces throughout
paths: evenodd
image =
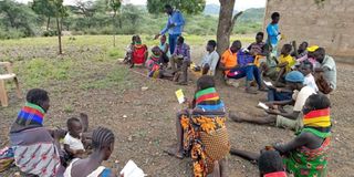
M 204 14 L 209 14 L 209 15 L 219 15 L 219 10 L 220 6 L 211 3 L 207 4 L 206 8 L 204 9 Z M 233 13 L 237 13 L 235 10 Z M 264 8 L 252 8 L 248 9 L 243 12 L 243 14 L 240 17 L 239 21 L 242 22 L 261 22 L 263 21 L 264 17 Z

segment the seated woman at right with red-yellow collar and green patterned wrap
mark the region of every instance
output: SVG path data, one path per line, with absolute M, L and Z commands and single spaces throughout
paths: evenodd
M 303 124 L 296 137 L 273 148 L 283 156 L 287 171 L 295 177 L 325 177 L 331 137 L 330 100 L 323 94 L 311 95 L 303 107 Z M 232 155 L 258 160 L 254 153 L 231 149 Z

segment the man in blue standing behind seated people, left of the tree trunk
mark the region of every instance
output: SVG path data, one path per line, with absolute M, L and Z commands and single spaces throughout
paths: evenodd
M 169 52 L 174 53 L 177 39 L 178 37 L 180 37 L 184 30 L 185 19 L 181 12 L 179 10 L 174 10 L 170 4 L 165 6 L 165 12 L 168 14 L 168 21 L 163 31 L 155 35 L 155 40 L 158 39 L 159 35 L 163 35 L 168 31 Z

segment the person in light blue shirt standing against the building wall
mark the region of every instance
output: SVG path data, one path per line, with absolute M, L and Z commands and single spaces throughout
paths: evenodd
M 273 12 L 272 15 L 272 22 L 268 24 L 267 27 L 267 33 L 268 33 L 268 44 L 271 46 L 271 52 L 270 55 L 271 58 L 277 58 L 278 53 L 278 43 L 281 39 L 281 34 L 279 31 L 279 20 L 280 20 L 280 14 L 279 12 Z

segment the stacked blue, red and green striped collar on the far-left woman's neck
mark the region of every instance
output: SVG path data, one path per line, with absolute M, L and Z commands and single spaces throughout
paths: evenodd
M 25 103 L 18 114 L 17 123 L 20 125 L 38 124 L 43 125 L 44 110 L 35 104 Z

